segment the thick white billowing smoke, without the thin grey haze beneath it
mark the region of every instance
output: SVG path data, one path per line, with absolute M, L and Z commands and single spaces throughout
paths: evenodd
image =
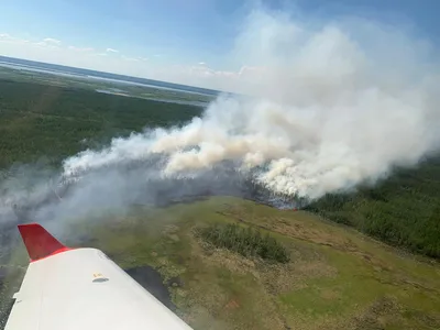
M 116 139 L 64 163 L 65 176 L 165 156 L 162 175 L 224 161 L 276 194 L 318 198 L 415 165 L 440 142 L 440 75 L 428 43 L 393 26 L 321 26 L 253 12 L 237 38 L 248 70 L 182 129 Z

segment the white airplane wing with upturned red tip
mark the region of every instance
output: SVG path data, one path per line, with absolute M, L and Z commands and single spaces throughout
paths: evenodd
M 20 224 L 31 257 L 6 330 L 191 330 L 106 254 Z

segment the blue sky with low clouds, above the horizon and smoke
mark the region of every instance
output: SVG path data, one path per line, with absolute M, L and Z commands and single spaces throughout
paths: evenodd
M 256 9 L 317 25 L 374 20 L 436 47 L 440 36 L 437 0 L 0 0 L 0 55 L 224 89 L 264 65 L 237 52 Z

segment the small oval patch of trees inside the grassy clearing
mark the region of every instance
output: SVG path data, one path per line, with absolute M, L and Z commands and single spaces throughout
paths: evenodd
M 260 256 L 263 260 L 287 263 L 287 250 L 268 233 L 262 235 L 260 230 L 238 224 L 215 224 L 198 230 L 200 237 L 217 248 L 224 248 L 244 256 Z

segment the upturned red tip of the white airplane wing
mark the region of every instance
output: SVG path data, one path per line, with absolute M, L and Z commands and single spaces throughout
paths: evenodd
M 31 262 L 70 250 L 58 242 L 38 223 L 19 224 Z

